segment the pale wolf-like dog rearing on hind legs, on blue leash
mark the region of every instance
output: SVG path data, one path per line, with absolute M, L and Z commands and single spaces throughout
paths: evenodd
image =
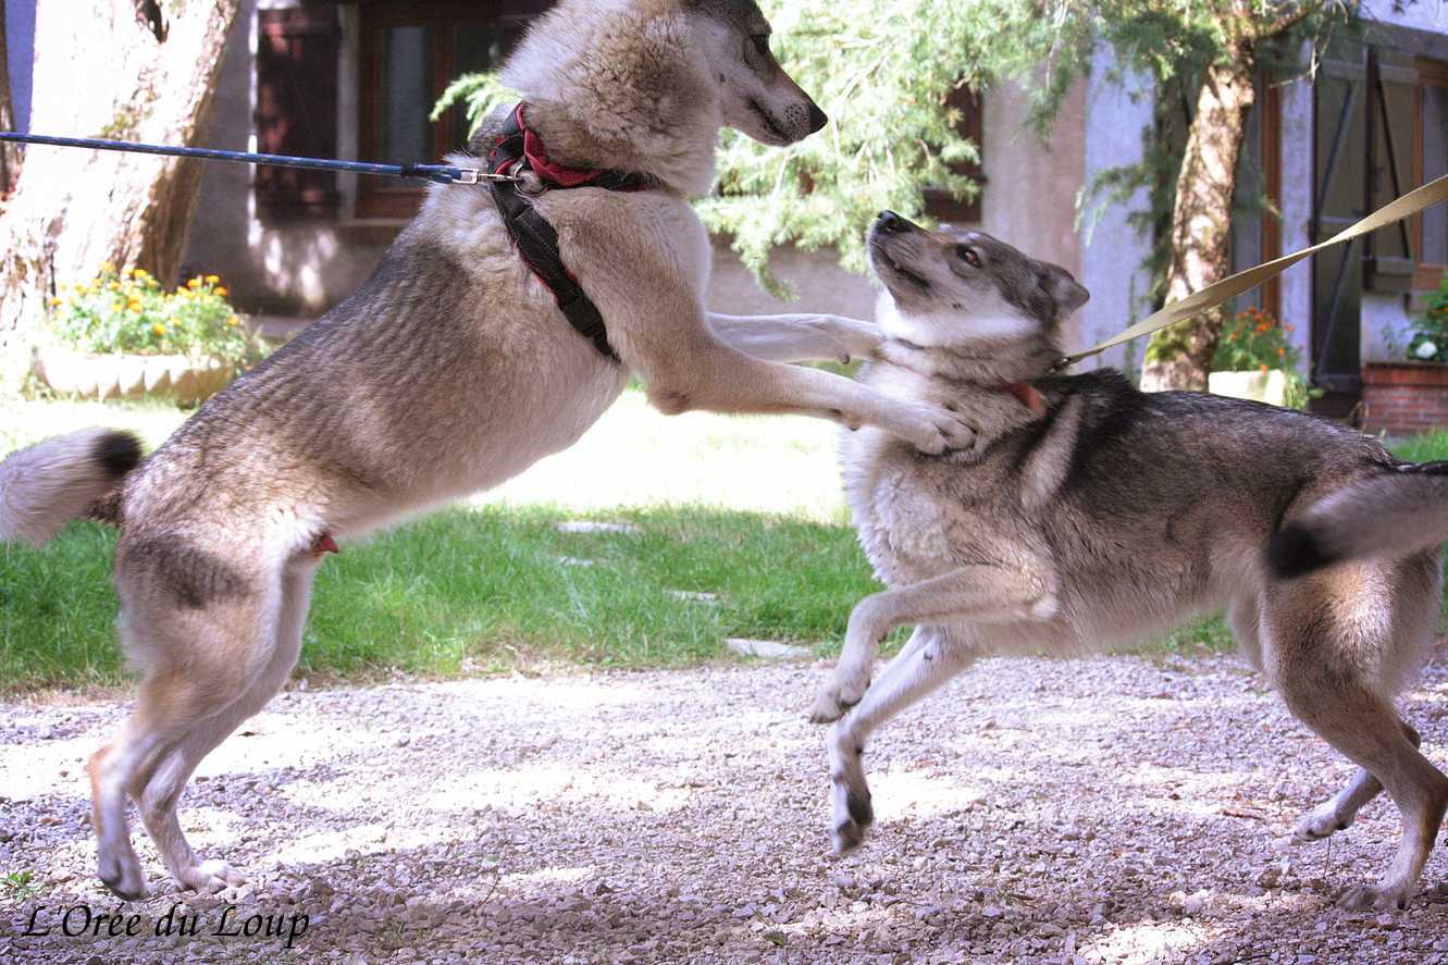
M 87 510 L 122 526 L 122 636 L 145 678 L 135 713 L 90 764 L 100 877 L 113 891 L 146 891 L 127 800 L 180 884 L 237 880 L 191 851 L 177 798 L 287 680 L 323 551 L 563 449 L 630 371 L 668 413 L 808 413 L 935 452 L 969 446 L 969 426 L 944 409 L 782 364 L 870 352 L 873 326 L 704 312 L 710 243 L 686 199 L 710 185 L 720 128 L 786 143 L 825 123 L 767 35 L 753 0 L 563 0 L 507 67 L 553 162 L 657 184 L 536 199 L 621 365 L 569 327 L 485 187 L 433 187 L 352 297 L 207 403 L 109 497 L 127 467 L 101 449 L 133 445 L 116 436 L 71 436 L 0 465 L 0 538 L 43 539 Z

